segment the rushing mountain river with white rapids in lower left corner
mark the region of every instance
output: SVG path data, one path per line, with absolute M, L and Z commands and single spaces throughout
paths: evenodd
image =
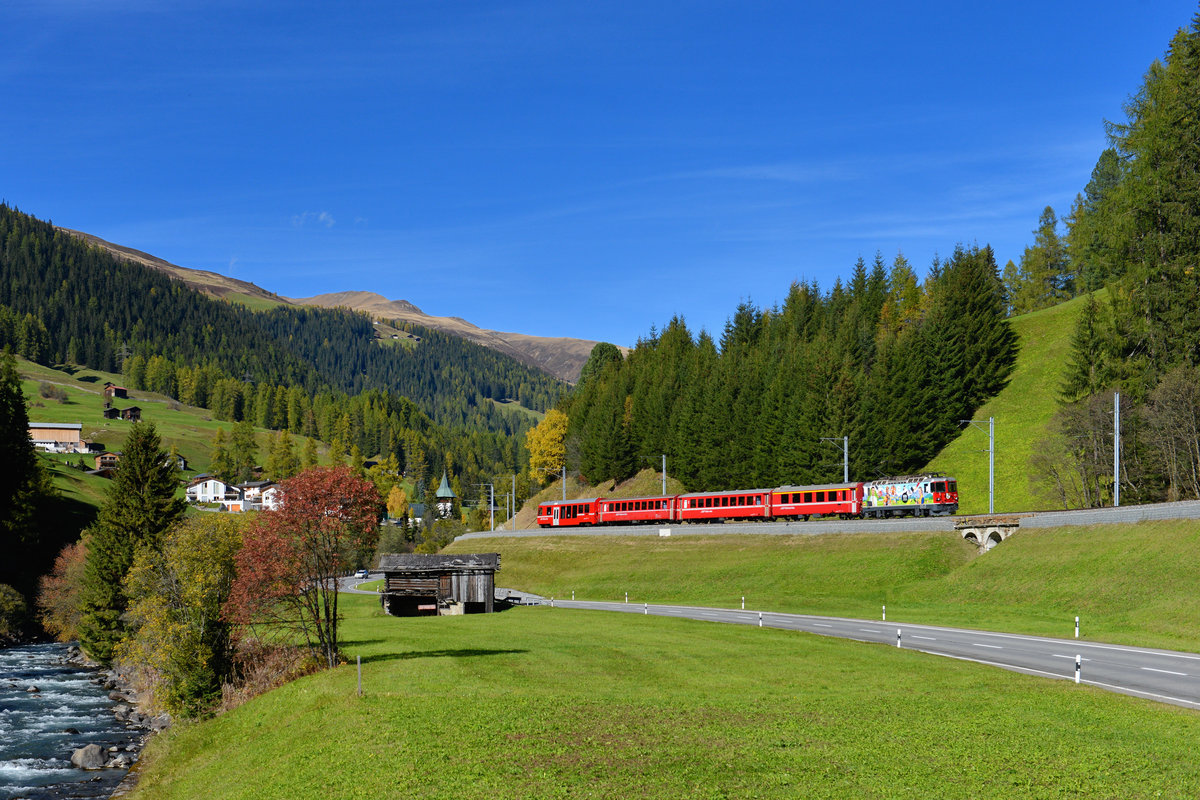
M 95 682 L 101 673 L 66 658 L 58 643 L 0 649 L 0 800 L 107 798 L 127 770 L 77 769 L 71 753 L 92 744 L 140 750 L 144 732 L 113 715 Z

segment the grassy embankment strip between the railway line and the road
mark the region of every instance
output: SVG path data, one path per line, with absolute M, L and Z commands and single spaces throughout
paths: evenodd
M 1195 522 L 1021 531 L 985 555 L 956 534 L 474 539 L 499 585 L 578 600 L 682 603 L 961 625 L 1200 651 Z

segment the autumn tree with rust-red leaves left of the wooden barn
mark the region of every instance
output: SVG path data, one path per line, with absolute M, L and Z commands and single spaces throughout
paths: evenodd
M 281 488 L 280 510 L 258 515 L 246 531 L 226 615 L 244 628 L 302 634 L 313 656 L 335 667 L 337 578 L 355 553 L 374 547 L 379 494 L 344 465 L 313 467 Z

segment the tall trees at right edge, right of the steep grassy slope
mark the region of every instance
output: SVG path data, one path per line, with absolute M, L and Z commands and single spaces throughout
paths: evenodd
M 1110 146 L 1026 277 L 1087 297 L 1056 386 L 1061 409 L 1034 459 L 1048 503 L 1109 505 L 1121 395 L 1121 500 L 1200 498 L 1200 14 L 1108 122 Z M 1031 252 L 1031 251 L 1027 251 Z M 1046 252 L 1057 253 L 1044 258 Z M 1068 276 L 1054 278 L 1052 273 Z

